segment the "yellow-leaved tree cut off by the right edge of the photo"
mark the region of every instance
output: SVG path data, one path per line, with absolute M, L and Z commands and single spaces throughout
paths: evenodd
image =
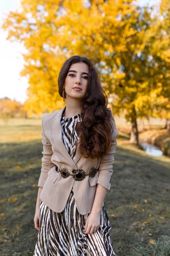
M 150 19 L 144 42 L 149 52 L 147 67 L 155 83 L 154 89 L 136 99 L 137 105 L 144 106 L 144 116 L 166 118 L 170 130 L 170 2 L 162 0 L 159 10 Z M 146 78 L 147 81 L 147 78 Z

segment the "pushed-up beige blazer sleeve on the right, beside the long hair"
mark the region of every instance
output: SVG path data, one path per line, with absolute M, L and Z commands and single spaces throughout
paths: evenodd
M 105 154 L 100 159 L 99 164 L 99 177 L 97 180 L 97 183 L 104 186 L 106 189 L 110 190 L 111 188 L 111 177 L 113 174 L 113 162 L 114 162 L 114 154 L 116 152 L 116 136 L 119 133 L 116 129 L 116 124 L 114 121 L 113 113 L 111 111 L 112 118 L 111 122 L 113 125 L 113 131 L 112 131 L 112 145 L 111 149 L 108 154 Z

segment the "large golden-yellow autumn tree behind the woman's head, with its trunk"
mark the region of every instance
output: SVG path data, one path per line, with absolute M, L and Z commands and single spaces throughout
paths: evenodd
M 61 108 L 59 70 L 67 58 L 84 55 L 98 68 L 113 112 L 126 109 L 130 141 L 138 144 L 136 119 L 153 114 L 144 96 L 161 83 L 155 59 L 150 64 L 150 41 L 144 40 L 153 24 L 151 12 L 133 0 L 22 0 L 2 27 L 7 40 L 23 43 L 27 50 L 20 73 L 29 82 L 27 109 L 40 113 Z

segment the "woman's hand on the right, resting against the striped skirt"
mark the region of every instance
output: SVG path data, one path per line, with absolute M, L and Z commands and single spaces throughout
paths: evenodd
M 100 214 L 101 212 L 91 212 L 85 222 L 85 234 L 92 234 L 100 227 Z

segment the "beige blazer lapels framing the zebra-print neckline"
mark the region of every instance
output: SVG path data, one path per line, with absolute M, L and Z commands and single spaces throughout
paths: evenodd
M 80 157 L 82 156 L 81 154 L 78 153 L 79 150 L 79 141 L 77 145 L 77 151 L 76 155 L 74 157 L 74 160 L 71 158 L 70 154 L 68 154 L 67 149 L 65 148 L 64 143 L 62 142 L 62 129 L 61 129 L 61 124 L 60 120 L 62 117 L 62 113 L 66 106 L 64 106 L 62 109 L 60 109 L 57 114 L 54 116 L 54 121 L 53 121 L 53 137 L 55 144 L 59 150 L 59 152 L 65 157 L 65 159 L 73 166 L 73 168 L 77 169 L 77 162 L 79 161 Z

